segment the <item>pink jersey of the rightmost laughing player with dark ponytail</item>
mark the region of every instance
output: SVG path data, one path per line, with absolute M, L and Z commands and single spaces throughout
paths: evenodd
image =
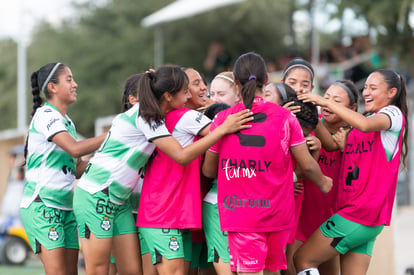
M 387 159 L 381 132 L 351 131 L 339 177 L 338 214 L 367 226 L 390 225 L 397 186 L 403 130 L 391 160 Z

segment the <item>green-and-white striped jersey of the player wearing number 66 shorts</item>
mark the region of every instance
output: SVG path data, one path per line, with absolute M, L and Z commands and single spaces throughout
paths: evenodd
M 90 194 L 108 188 L 113 203 L 123 204 L 155 149 L 152 140 L 171 136 L 165 124 L 149 125 L 138 116 L 139 104 L 117 115 L 99 150 L 90 160 L 78 187 Z

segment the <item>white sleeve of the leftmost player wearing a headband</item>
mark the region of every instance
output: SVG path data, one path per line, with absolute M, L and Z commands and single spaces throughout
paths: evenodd
M 54 135 L 60 132 L 67 132 L 62 115 L 51 107 L 44 107 L 36 112 L 34 120 L 35 129 L 51 140 Z

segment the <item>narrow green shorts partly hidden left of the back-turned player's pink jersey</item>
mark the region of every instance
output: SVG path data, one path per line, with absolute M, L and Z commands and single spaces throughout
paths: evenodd
M 203 202 L 203 229 L 207 241 L 207 261 L 230 262 L 227 232 L 220 230 L 220 219 L 217 204 Z

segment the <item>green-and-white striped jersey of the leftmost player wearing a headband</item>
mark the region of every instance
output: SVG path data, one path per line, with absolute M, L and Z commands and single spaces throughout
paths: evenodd
M 29 207 L 40 197 L 46 206 L 72 209 L 76 158 L 52 142 L 53 136 L 60 132 L 68 132 L 77 139 L 72 120 L 45 103 L 36 110 L 29 127 L 27 181 L 21 207 Z

